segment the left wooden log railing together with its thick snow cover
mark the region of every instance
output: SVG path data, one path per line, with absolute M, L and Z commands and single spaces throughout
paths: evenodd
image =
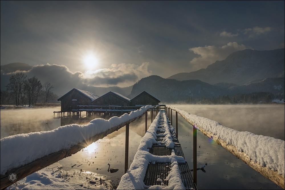
M 71 156 L 107 134 L 142 117 L 154 106 L 141 107 L 130 114 L 109 120 L 93 119 L 86 125 L 69 124 L 51 131 L 17 134 L 1 139 L 1 189 L 15 183 L 10 173 L 17 174 L 17 181 L 63 158 Z M 12 151 L 11 151 L 12 150 Z

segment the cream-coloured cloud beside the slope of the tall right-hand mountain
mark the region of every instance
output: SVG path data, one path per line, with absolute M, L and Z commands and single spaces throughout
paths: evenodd
M 200 55 L 198 58 L 194 58 L 190 61 L 193 70 L 199 70 L 201 68 L 206 68 L 208 65 L 214 63 L 217 60 L 224 60 L 229 54 L 247 49 L 245 45 L 239 45 L 237 42 L 229 42 L 227 45 L 222 47 L 216 46 L 205 46 L 190 48 L 195 54 Z

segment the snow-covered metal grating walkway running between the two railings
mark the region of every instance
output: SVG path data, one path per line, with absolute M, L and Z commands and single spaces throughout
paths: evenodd
M 122 176 L 118 188 L 147 189 L 154 185 L 197 189 L 174 127 L 164 110 L 158 112 L 142 138 L 134 161 Z

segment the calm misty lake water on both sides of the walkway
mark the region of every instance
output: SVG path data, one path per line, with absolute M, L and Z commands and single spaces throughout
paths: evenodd
M 223 126 L 239 131 L 250 131 L 284 140 L 284 105 L 172 105 L 191 114 L 207 117 L 220 122 Z M 1 138 L 13 134 L 52 130 L 66 120 L 55 118 L 53 111 L 58 109 L 1 110 Z M 253 114 L 253 115 L 252 115 Z M 57 117 L 57 116 L 56 116 Z M 173 121 L 175 114 L 173 113 Z M 78 122 L 73 120 L 71 122 Z M 88 121 L 80 121 L 84 124 Z M 150 118 L 148 118 L 148 126 Z M 175 122 L 174 122 L 175 126 Z M 185 159 L 190 169 L 193 161 L 193 127 L 178 114 L 178 139 L 183 147 Z M 141 137 L 144 135 L 144 118 L 130 124 L 129 166 L 137 152 Z M 205 163 L 205 173 L 197 171 L 198 189 L 281 189 L 264 178 L 257 171 L 237 159 L 201 132 L 197 133 L 197 166 Z M 200 146 L 200 148 L 199 148 Z M 125 127 L 89 145 L 71 157 L 60 160 L 66 170 L 87 170 L 106 174 L 119 182 L 124 173 Z M 118 168 L 116 173 L 109 173 Z M 76 165 L 75 165 L 76 164 Z M 75 165 L 75 166 L 74 166 Z M 73 167 L 71 167 L 73 166 Z M 118 179 L 117 179 L 118 178 Z

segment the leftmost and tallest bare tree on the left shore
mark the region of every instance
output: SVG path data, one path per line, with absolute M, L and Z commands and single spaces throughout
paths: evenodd
M 20 96 L 22 94 L 26 78 L 27 75 L 25 75 L 23 72 L 16 73 L 10 77 L 10 83 L 6 86 L 7 90 L 12 91 L 16 105 L 20 104 Z

